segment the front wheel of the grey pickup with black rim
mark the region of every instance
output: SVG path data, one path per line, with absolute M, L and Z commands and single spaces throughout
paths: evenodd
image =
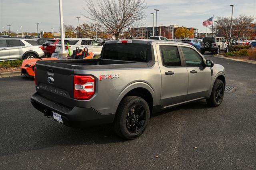
M 206 99 L 207 104 L 211 107 L 219 106 L 223 101 L 224 91 L 225 85 L 223 81 L 217 79 L 213 85 L 210 98 Z

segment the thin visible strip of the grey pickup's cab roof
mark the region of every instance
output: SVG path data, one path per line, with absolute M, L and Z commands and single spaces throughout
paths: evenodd
M 126 39 L 124 39 L 124 40 L 126 40 Z M 120 40 L 110 40 L 110 41 L 106 41 L 106 43 L 118 43 L 118 41 L 120 41 Z M 182 43 L 182 42 L 172 42 L 172 41 L 164 41 L 164 40 L 150 40 L 150 39 L 129 39 L 129 41 L 132 41 L 132 43 L 145 43 L 145 44 L 170 43 L 170 44 L 188 45 L 188 43 Z

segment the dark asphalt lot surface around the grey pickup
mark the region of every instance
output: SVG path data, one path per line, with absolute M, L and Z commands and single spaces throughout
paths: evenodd
M 130 141 L 111 125 L 69 128 L 47 119 L 30 104 L 33 79 L 1 78 L 1 169 L 255 169 L 256 65 L 206 59 L 225 67 L 236 91 L 216 108 L 196 101 L 158 113 Z

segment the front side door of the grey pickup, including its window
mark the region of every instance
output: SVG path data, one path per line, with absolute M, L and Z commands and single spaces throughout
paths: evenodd
M 211 69 L 201 55 L 189 46 L 181 46 L 188 70 L 188 96 L 186 101 L 207 97 L 211 85 Z

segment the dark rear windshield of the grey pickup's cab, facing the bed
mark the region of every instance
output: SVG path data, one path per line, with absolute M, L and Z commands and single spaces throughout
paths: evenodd
M 107 43 L 104 47 L 102 58 L 148 62 L 152 59 L 151 45 L 134 43 Z

